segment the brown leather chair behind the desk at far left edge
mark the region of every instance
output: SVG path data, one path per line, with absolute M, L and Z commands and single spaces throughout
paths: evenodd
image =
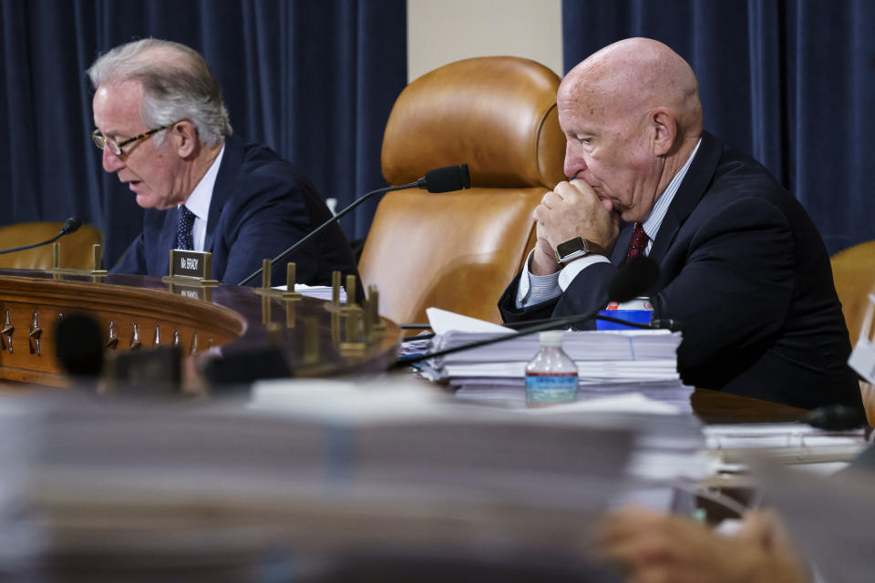
M 57 235 L 63 224 L 62 222 L 22 222 L 0 227 L 0 250 L 49 240 Z M 58 253 L 60 267 L 90 270 L 94 267 L 92 245 L 103 244 L 103 233 L 92 225 L 82 225 L 57 242 L 60 243 Z M 50 244 L 0 255 L 0 268 L 46 270 L 50 267 L 52 267 Z

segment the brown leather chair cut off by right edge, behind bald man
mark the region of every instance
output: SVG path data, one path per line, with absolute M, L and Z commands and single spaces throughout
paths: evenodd
M 832 263 L 832 279 L 839 293 L 841 312 L 845 314 L 848 324 L 850 343 L 856 344 L 869 307 L 869 294 L 875 293 L 875 240 L 839 251 L 829 261 Z M 869 424 L 875 426 L 875 387 L 863 383 L 860 388 Z

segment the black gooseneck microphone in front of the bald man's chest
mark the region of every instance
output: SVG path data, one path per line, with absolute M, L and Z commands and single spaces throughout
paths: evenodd
M 608 292 L 605 294 L 607 297 L 602 298 L 602 302 L 599 302 L 598 307 L 592 312 L 585 314 L 576 314 L 564 318 L 551 318 L 545 322 L 536 323 L 525 328 L 521 328 L 516 332 L 505 334 L 504 336 L 489 338 L 487 340 L 481 340 L 475 343 L 461 344 L 459 346 L 454 346 L 445 350 L 439 350 L 434 353 L 418 354 L 417 356 L 412 356 L 409 358 L 399 358 L 398 360 L 396 360 L 394 366 L 404 366 L 407 364 L 418 363 L 429 358 L 435 358 L 436 356 L 445 356 L 447 354 L 460 353 L 462 351 L 470 350 L 472 348 L 486 346 L 487 344 L 501 343 L 507 340 L 513 340 L 514 338 L 520 338 L 520 336 L 533 334 L 535 332 L 565 328 L 576 323 L 585 322 L 586 320 L 592 320 L 592 318 L 594 318 L 598 314 L 598 312 L 602 311 L 605 304 L 607 304 L 609 301 L 621 303 L 629 302 L 641 295 L 643 292 L 646 292 L 648 289 L 650 289 L 650 287 L 654 285 L 658 278 L 659 266 L 656 264 L 656 261 L 650 259 L 646 255 L 638 255 L 637 257 L 634 257 L 630 261 L 626 261 L 625 263 L 623 263 L 623 265 L 620 266 L 620 269 L 617 270 L 617 272 L 613 276 L 613 279 L 608 284 Z

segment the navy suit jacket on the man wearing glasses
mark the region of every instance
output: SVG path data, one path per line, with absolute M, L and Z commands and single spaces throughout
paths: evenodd
M 167 275 L 176 242 L 178 210 L 146 210 L 143 231 L 125 251 L 114 273 Z M 212 190 L 204 251 L 212 252 L 212 277 L 238 283 L 307 232 L 331 212 L 316 189 L 273 150 L 228 138 Z M 285 263 L 296 263 L 297 282 L 331 285 L 331 272 L 355 273 L 355 261 L 337 225 L 273 266 L 273 285 L 285 283 Z M 261 277 L 251 285 L 261 284 Z M 359 296 L 361 297 L 361 296 Z

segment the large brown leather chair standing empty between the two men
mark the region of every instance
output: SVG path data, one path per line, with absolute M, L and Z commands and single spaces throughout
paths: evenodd
M 376 210 L 358 269 L 380 312 L 425 322 L 435 306 L 499 322 L 496 302 L 534 245 L 533 210 L 565 179 L 560 79 L 514 56 L 442 66 L 397 98 L 383 138 L 383 176 L 405 184 L 467 163 L 471 189 L 406 189 Z

